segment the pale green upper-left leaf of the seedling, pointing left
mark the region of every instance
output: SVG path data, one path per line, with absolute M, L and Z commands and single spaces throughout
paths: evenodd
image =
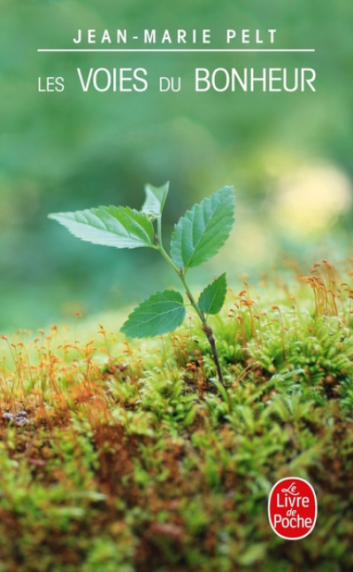
M 50 219 L 58 220 L 88 243 L 114 246 L 115 248 L 138 248 L 152 246 L 154 228 L 143 213 L 129 207 L 98 206 L 76 213 L 55 213 Z

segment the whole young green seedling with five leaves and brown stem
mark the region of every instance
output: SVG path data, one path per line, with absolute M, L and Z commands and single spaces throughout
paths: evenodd
M 145 186 L 146 198 L 142 210 L 128 206 L 98 206 L 75 213 L 50 214 L 73 234 L 94 244 L 115 248 L 146 247 L 159 251 L 174 272 L 178 274 L 188 300 L 196 311 L 211 351 L 219 382 L 224 380 L 219 365 L 216 343 L 207 314 L 219 313 L 226 298 L 226 274 L 211 282 L 196 302 L 188 282 L 188 269 L 198 267 L 211 259 L 226 242 L 234 223 L 234 189 L 224 187 L 210 198 L 194 205 L 175 225 L 170 254 L 162 240 L 162 212 L 169 183 L 162 187 Z M 180 292 L 163 290 L 152 294 L 134 309 L 121 328 L 127 336 L 160 336 L 178 328 L 186 315 Z

